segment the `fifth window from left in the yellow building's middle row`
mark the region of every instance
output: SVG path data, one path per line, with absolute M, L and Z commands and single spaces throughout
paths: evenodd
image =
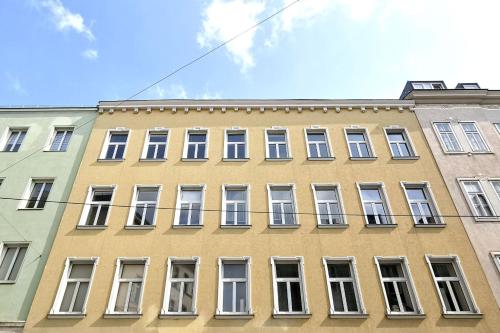
M 270 226 L 298 225 L 294 185 L 268 185 Z

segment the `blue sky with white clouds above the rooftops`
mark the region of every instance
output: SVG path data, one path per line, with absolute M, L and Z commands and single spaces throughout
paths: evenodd
M 127 98 L 291 0 L 2 0 L 0 105 Z M 500 89 L 500 1 L 302 0 L 137 98 Z

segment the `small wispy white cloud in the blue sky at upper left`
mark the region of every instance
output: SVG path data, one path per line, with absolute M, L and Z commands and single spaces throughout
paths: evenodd
M 74 30 L 83 34 L 89 40 L 95 39 L 92 30 L 85 24 L 82 15 L 72 13 L 64 7 L 61 0 L 40 0 L 37 4 L 50 12 L 58 30 Z

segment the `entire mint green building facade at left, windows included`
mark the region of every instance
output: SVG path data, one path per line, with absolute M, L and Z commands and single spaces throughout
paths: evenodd
M 68 199 L 96 113 L 0 108 L 2 333 L 24 326 L 65 208 L 51 201 Z

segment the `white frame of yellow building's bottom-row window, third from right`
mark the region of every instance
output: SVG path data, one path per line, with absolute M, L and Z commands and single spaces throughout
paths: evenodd
M 326 285 L 328 289 L 328 299 L 330 301 L 330 312 L 329 316 L 330 318 L 350 318 L 350 317 L 366 317 L 367 312 L 365 305 L 363 303 L 363 295 L 361 293 L 361 285 L 359 283 L 359 277 L 358 277 L 358 272 L 356 268 L 356 258 L 349 256 L 349 257 L 323 257 L 323 268 L 325 270 L 325 279 L 326 279 Z M 329 264 L 335 264 L 335 263 L 347 263 L 349 265 L 349 268 L 351 270 L 351 278 L 332 278 L 330 277 L 330 274 L 328 272 L 328 265 Z M 344 295 L 344 289 L 343 289 L 343 282 L 352 282 L 353 283 L 353 288 L 354 288 L 354 293 L 356 297 L 356 303 L 358 305 L 359 311 L 335 311 L 335 308 L 333 306 L 333 297 L 332 297 L 332 287 L 330 282 L 340 282 L 341 283 L 341 293 L 343 295 L 342 301 L 344 302 L 344 309 L 347 309 L 347 304 L 346 304 L 346 297 Z

